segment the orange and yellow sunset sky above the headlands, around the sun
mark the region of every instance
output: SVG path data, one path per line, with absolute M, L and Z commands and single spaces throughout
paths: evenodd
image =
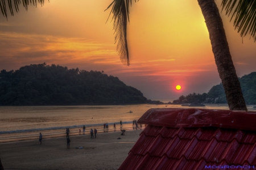
M 104 11 L 112 0 L 50 0 L 44 6 L 0 15 L 0 70 L 59 64 L 104 71 L 148 99 L 176 99 L 220 84 L 201 9 L 196 0 L 140 0 L 130 8 L 130 66 L 114 44 L 113 23 Z M 216 1 L 220 7 L 220 0 Z M 242 38 L 221 13 L 238 77 L 256 71 L 256 43 Z M 176 90 L 176 85 L 181 90 Z

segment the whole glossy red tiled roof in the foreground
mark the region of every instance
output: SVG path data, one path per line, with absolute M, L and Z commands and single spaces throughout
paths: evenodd
M 148 126 L 119 169 L 256 169 L 256 112 L 150 109 L 138 123 Z

